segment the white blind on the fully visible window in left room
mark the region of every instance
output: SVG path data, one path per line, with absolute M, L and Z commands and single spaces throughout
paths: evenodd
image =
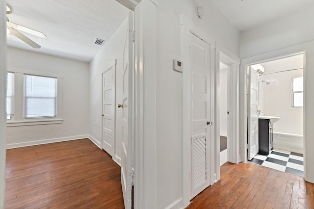
M 57 78 L 24 75 L 26 118 L 56 117 Z

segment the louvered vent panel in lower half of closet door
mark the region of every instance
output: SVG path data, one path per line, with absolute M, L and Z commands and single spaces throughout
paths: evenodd
M 206 137 L 193 139 L 193 188 L 206 182 Z

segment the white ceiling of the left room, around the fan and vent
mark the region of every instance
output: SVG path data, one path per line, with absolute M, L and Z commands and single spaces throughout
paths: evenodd
M 126 20 L 129 9 L 116 0 L 7 0 L 13 12 L 10 22 L 43 32 L 48 39 L 24 33 L 42 47 L 33 49 L 18 38 L 8 37 L 8 46 L 90 62 Z M 104 43 L 105 44 L 105 43 Z M 103 45 L 104 45 L 103 44 Z

